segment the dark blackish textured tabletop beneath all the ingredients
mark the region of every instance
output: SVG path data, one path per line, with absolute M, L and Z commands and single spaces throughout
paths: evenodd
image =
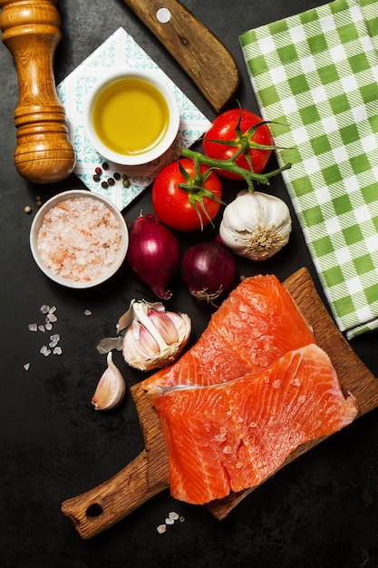
M 323 4 L 315 0 L 218 0 L 183 2 L 226 44 L 241 73 L 238 99 L 257 112 L 238 36 L 247 29 Z M 59 83 L 119 26 L 141 44 L 212 120 L 215 113 L 155 37 L 121 0 L 66 0 L 57 5 L 63 39 L 54 59 Z M 200 49 L 200 45 L 199 45 Z M 12 55 L 0 44 L 1 188 L 1 357 L 0 357 L 0 564 L 6 568 L 86 566 L 257 566 L 373 568 L 378 566 L 378 414 L 371 412 L 288 465 L 218 522 L 200 507 L 174 501 L 168 491 L 107 532 L 83 541 L 60 511 L 64 499 L 111 477 L 143 447 L 129 396 L 119 410 L 96 413 L 94 388 L 104 369 L 95 346 L 113 334 L 131 298 L 151 299 L 127 265 L 109 283 L 92 291 L 55 286 L 34 265 L 29 229 L 35 196 L 81 183 L 71 176 L 54 187 L 24 181 L 16 173 L 13 113 L 18 86 Z M 274 165 L 274 161 L 272 161 Z M 287 201 L 282 180 L 272 192 Z M 234 193 L 229 188 L 228 195 Z M 33 213 L 24 213 L 30 204 Z M 150 191 L 125 211 L 131 223 L 151 211 Z M 204 235 L 187 235 L 182 249 Z M 294 229 L 286 249 L 263 265 L 239 262 L 240 274 L 275 272 L 285 279 L 307 266 L 315 271 L 301 231 Z M 315 283 L 318 282 L 315 278 Z M 193 339 L 206 327 L 210 310 L 189 298 L 179 279 L 171 308 L 193 318 Z M 43 357 L 41 334 L 28 323 L 41 319 L 42 304 L 57 307 L 54 331 L 61 334 L 62 357 Z M 92 310 L 91 317 L 84 310 Z M 377 332 L 352 345 L 378 376 Z M 116 354 L 120 355 L 120 354 Z M 141 375 L 115 357 L 129 386 Z M 24 363 L 30 362 L 28 372 Z M 170 511 L 182 524 L 156 531 Z

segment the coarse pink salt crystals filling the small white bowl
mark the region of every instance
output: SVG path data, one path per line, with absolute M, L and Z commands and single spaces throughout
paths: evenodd
M 91 281 L 105 274 L 121 249 L 121 227 L 101 201 L 75 197 L 44 215 L 37 237 L 44 265 L 65 279 Z

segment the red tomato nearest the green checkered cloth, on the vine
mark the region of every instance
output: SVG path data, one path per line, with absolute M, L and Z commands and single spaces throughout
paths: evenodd
M 237 135 L 237 122 L 239 120 L 241 113 L 240 130 L 242 132 L 242 137 Z M 237 150 L 240 148 L 240 142 L 248 129 L 254 126 L 258 122 L 262 122 L 262 118 L 257 116 L 257 114 L 250 113 L 244 109 L 232 109 L 231 111 L 226 111 L 226 113 L 219 114 L 215 121 L 211 124 L 208 132 L 206 132 L 203 140 L 203 150 L 209 158 L 216 158 L 217 160 L 228 160 L 231 158 Z M 247 150 L 251 161 L 252 170 L 255 173 L 262 173 L 267 167 L 267 162 L 269 160 L 272 149 L 268 148 L 266 150 L 261 150 L 254 148 L 254 143 L 264 144 L 266 146 L 273 145 L 273 137 L 267 126 L 267 124 L 262 124 L 257 128 L 255 134 L 249 138 L 249 149 Z M 233 141 L 235 145 L 229 144 L 218 144 L 217 142 L 210 142 L 211 140 L 219 141 Z M 241 154 L 236 163 L 241 168 L 250 170 L 250 166 L 246 160 L 244 154 Z M 240 179 L 236 173 L 231 171 L 218 171 L 219 175 L 225 178 L 232 178 L 234 180 Z

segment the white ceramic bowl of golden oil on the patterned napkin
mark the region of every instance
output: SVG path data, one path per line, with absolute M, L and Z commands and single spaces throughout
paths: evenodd
M 130 84 L 126 84 L 130 81 L 144 85 L 140 95 L 134 94 L 133 99 L 132 88 Z M 113 94 L 110 93 L 111 89 Z M 156 91 L 165 104 L 159 105 L 154 99 L 153 93 L 156 94 Z M 105 110 L 105 105 L 116 97 L 119 97 L 119 110 L 109 119 L 109 107 Z M 128 103 L 125 104 L 125 101 Z M 96 126 L 93 124 L 95 108 Z M 157 124 L 151 128 L 150 125 L 158 117 L 159 122 L 162 122 L 162 109 L 167 113 L 165 126 L 161 130 Z M 94 85 L 83 107 L 83 125 L 93 148 L 106 160 L 125 166 L 141 165 L 160 158 L 174 142 L 179 132 L 179 120 L 179 105 L 170 85 L 160 73 L 151 70 L 124 69 L 110 73 Z M 127 135 L 123 137 L 122 132 L 127 132 Z M 117 137 L 117 142 L 114 142 L 114 136 Z M 144 139 L 148 143 L 147 148 L 144 147 Z

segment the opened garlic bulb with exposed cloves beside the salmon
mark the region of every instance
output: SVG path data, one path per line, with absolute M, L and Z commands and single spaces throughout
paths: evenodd
M 118 327 L 127 324 L 122 353 L 143 371 L 170 365 L 186 346 L 191 331 L 188 314 L 166 311 L 161 302 L 131 301 Z

